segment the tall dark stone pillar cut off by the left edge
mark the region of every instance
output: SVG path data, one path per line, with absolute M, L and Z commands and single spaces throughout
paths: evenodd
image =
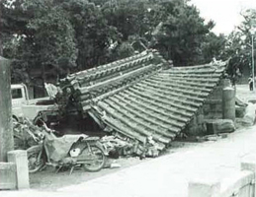
M 0 56 L 0 162 L 14 149 L 10 61 Z

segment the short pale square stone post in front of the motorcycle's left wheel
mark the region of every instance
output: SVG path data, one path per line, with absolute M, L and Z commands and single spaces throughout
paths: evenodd
M 30 188 L 27 151 L 16 150 L 8 152 L 8 162 L 16 164 L 17 189 Z

